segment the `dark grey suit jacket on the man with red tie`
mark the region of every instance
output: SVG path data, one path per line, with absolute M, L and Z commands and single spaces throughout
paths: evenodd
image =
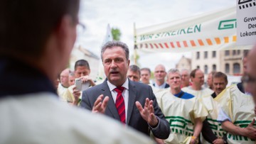
M 95 103 L 97 97 L 100 96 L 100 94 L 103 94 L 104 96 L 110 96 L 105 115 L 120 121 L 117 108 L 115 107 L 114 100 L 112 99 L 110 88 L 107 85 L 107 79 L 102 84 L 91 87 L 90 89 L 82 92 L 82 101 L 80 106 L 85 109 L 92 110 L 93 104 Z M 149 85 L 139 82 L 132 82 L 130 80 L 127 125 L 132 126 L 133 128 L 137 129 L 137 131 L 141 131 L 142 133 L 149 135 L 149 125 L 146 123 L 146 121 L 144 121 L 135 104 L 135 101 L 139 101 L 144 107 L 146 97 L 154 101 L 154 113 L 159 117 L 160 122 L 157 128 L 151 129 L 152 133 L 156 138 L 168 138 L 171 132 L 170 126 L 168 121 L 166 121 L 164 118 L 164 114 L 161 112 L 161 109 L 156 102 L 156 97 L 154 96 L 151 87 Z

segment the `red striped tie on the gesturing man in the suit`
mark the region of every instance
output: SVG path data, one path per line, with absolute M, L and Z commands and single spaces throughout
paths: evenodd
M 116 87 L 114 91 L 117 92 L 117 99 L 116 99 L 115 106 L 117 107 L 120 121 L 122 123 L 125 123 L 125 105 L 124 105 L 124 97 L 122 96 L 124 87 Z

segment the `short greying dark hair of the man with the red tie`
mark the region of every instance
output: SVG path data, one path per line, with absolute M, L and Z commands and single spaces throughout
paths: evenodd
M 113 47 L 121 47 L 125 52 L 126 59 L 129 60 L 129 48 L 127 44 L 122 43 L 120 41 L 109 41 L 102 46 L 102 50 L 101 50 L 102 62 L 103 62 L 103 53 L 105 52 L 105 50 L 107 50 L 107 48 L 113 48 Z

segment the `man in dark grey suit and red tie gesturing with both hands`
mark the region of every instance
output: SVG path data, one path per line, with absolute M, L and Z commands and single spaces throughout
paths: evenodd
M 156 138 L 169 137 L 170 127 L 157 105 L 149 85 L 127 78 L 129 48 L 125 43 L 112 41 L 101 50 L 107 79 L 102 84 L 82 92 L 81 106 L 92 112 L 105 113 L 122 123 Z

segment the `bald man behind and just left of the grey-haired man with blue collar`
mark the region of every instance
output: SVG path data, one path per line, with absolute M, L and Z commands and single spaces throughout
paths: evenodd
M 164 65 L 156 65 L 156 68 L 154 70 L 155 83 L 153 84 L 153 86 L 158 89 L 166 89 L 170 87 L 169 84 L 166 84 L 165 77 L 166 69 Z

